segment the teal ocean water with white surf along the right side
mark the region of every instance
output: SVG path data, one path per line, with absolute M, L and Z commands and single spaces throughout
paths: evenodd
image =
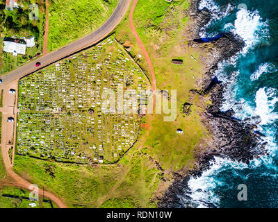
M 197 207 L 278 207 L 278 1 L 202 0 L 199 9 L 204 7 L 213 19 L 200 37 L 231 31 L 245 41 L 215 72 L 226 85 L 221 109 L 257 123 L 268 155 L 250 164 L 216 157 L 202 176 L 190 178 L 188 194 Z M 240 184 L 247 186 L 246 201 L 237 198 Z

